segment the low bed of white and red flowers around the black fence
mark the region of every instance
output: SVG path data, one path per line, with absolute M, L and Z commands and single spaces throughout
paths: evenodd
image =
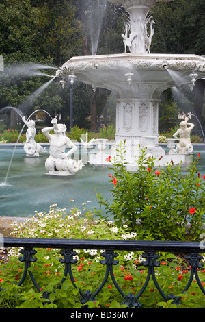
M 32 238 L 89 238 L 89 239 L 133 239 L 135 232 L 128 227 L 116 227 L 113 221 L 95 219 L 93 212 L 82 214 L 74 209 L 66 215 L 64 209 L 51 205 L 50 211 L 36 212 L 36 215 L 23 223 L 12 225 L 13 237 Z M 74 249 L 77 264 L 72 265 L 72 273 L 77 288 L 74 288 L 70 277 L 67 277 L 61 288 L 57 288 L 64 277 L 64 264 L 59 261 L 60 249 L 37 249 L 38 260 L 31 263 L 29 271 L 40 286 L 36 290 L 31 279 L 18 286 L 23 275 L 23 263 L 18 257 L 20 249 L 12 248 L 8 253 L 8 262 L 1 262 L 0 267 L 0 308 L 82 308 L 78 288 L 85 292 L 87 288 L 96 290 L 105 277 L 105 266 L 100 264 L 102 250 Z M 138 251 L 119 251 L 119 264 L 114 267 L 115 280 L 125 294 L 137 294 L 147 277 L 147 268 L 142 265 L 145 260 Z M 205 258 L 202 259 L 203 261 Z M 190 267 L 183 259 L 169 253 L 161 254 L 161 266 L 156 269 L 159 284 L 165 293 L 180 295 L 189 280 Z M 204 279 L 205 270 L 200 269 L 200 279 Z M 42 298 L 50 293 L 48 300 Z M 194 281 L 189 292 L 183 293 L 178 306 L 171 301 L 165 302 L 159 294 L 154 282 L 150 280 L 146 290 L 140 297 L 143 308 L 202 308 L 204 296 Z M 126 308 L 122 304 L 123 297 L 115 288 L 109 276 L 105 286 L 98 293 L 94 302 L 88 302 L 89 308 Z M 173 300 L 172 300 L 173 301 Z

